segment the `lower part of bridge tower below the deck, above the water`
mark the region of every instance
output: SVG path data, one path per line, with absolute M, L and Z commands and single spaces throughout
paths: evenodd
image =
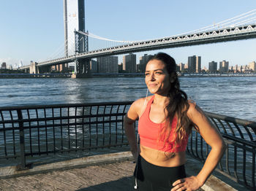
M 80 59 L 75 61 L 75 73 L 72 78 L 88 78 L 91 77 L 90 59 Z

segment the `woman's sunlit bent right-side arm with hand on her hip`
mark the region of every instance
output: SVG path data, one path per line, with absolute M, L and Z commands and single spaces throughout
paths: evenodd
M 173 183 L 172 191 L 178 190 L 181 187 L 187 190 L 197 190 L 199 187 L 202 187 L 208 176 L 214 171 L 226 149 L 225 142 L 219 130 L 212 125 L 200 107 L 196 106 L 196 104 L 189 103 L 187 114 L 189 119 L 197 125 L 200 135 L 211 146 L 211 152 L 208 154 L 206 162 L 199 174 L 177 180 Z

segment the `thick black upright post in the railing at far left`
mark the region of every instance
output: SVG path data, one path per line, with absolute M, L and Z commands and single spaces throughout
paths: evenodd
M 26 156 L 25 156 L 25 136 L 24 136 L 24 127 L 23 127 L 23 116 L 21 109 L 17 110 L 18 120 L 19 120 L 19 133 L 20 133 L 20 165 L 18 166 L 19 170 L 26 168 Z

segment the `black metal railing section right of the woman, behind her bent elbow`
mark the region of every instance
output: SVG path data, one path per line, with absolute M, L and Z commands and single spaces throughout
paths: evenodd
M 219 129 L 227 149 L 217 171 L 250 190 L 256 190 L 256 122 L 206 112 L 209 120 Z M 211 148 L 200 134 L 193 130 L 187 152 L 204 162 Z

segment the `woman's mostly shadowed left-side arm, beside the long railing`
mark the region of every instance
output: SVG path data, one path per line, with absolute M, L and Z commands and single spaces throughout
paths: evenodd
M 124 130 L 129 141 L 129 147 L 132 152 L 134 160 L 137 162 L 138 157 L 138 144 L 135 136 L 135 121 L 139 118 L 139 105 L 140 100 L 133 102 L 130 106 L 129 111 L 124 117 Z

